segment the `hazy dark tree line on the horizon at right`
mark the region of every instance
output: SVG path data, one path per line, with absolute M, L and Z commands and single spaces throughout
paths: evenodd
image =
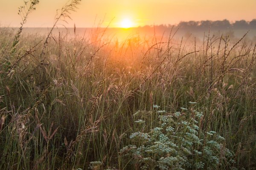
M 152 27 L 152 26 L 144 26 L 144 27 Z M 155 26 L 158 29 L 166 29 L 172 27 L 172 25 L 158 25 Z M 234 23 L 230 23 L 229 20 L 202 20 L 202 21 L 188 21 L 188 22 L 180 22 L 175 27 L 179 29 L 191 29 L 191 30 L 200 30 L 200 29 L 211 29 L 221 30 L 221 29 L 256 29 L 256 19 L 251 21 L 246 20 L 238 20 Z

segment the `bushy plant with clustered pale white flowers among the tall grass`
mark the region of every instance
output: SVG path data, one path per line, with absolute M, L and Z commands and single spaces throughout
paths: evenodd
M 155 110 L 159 109 L 157 105 L 153 108 L 153 113 L 159 113 Z M 130 166 L 143 170 L 236 169 L 233 153 L 225 147 L 225 138 L 201 128 L 203 113 L 180 109 L 181 112 L 175 113 L 161 112 L 158 126 L 148 133 L 132 133 L 133 145 L 120 150 L 122 158 L 129 161 Z M 134 116 L 140 116 L 139 112 Z

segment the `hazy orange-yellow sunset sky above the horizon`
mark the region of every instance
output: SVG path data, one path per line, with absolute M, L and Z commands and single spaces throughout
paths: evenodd
M 67 0 L 40 0 L 29 15 L 26 27 L 52 26 L 56 9 Z M 0 26 L 19 26 L 18 7 L 23 0 L 0 0 Z M 177 24 L 189 20 L 252 20 L 256 18 L 256 0 L 82 0 L 73 20 L 65 26 L 120 26 L 124 19 L 133 26 Z M 95 24 L 94 24 L 95 23 Z M 61 26 L 61 25 L 59 25 Z

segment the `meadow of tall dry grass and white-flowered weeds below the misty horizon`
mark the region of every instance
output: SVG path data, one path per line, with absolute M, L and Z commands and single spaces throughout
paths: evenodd
M 255 169 L 256 42 L 176 31 L 1 28 L 0 169 Z

